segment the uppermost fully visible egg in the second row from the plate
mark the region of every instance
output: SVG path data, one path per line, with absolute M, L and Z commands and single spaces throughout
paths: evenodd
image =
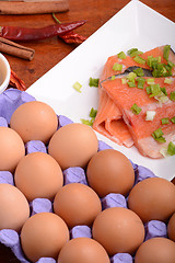
M 21 159 L 14 182 L 28 201 L 34 198 L 54 199 L 63 184 L 63 175 L 58 162 L 44 152 L 33 152 Z

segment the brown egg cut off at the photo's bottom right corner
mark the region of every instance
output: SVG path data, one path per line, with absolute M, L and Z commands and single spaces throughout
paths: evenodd
M 152 238 L 138 249 L 135 263 L 174 263 L 175 242 L 166 238 Z

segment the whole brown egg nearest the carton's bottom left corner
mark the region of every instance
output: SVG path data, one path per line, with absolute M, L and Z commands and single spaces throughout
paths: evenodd
M 39 258 L 57 259 L 69 240 L 65 221 L 52 213 L 38 213 L 30 217 L 21 231 L 22 249 L 32 262 Z

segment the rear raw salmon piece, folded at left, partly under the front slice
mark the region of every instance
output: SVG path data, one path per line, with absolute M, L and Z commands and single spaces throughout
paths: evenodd
M 161 46 L 140 55 L 140 57 L 147 59 L 148 56 L 160 56 L 161 62 L 167 64 L 167 61 L 163 57 L 163 52 L 164 46 Z M 175 55 L 172 49 L 170 50 L 168 58 L 170 61 L 175 64 Z M 113 69 L 113 66 L 116 62 L 122 64 L 121 71 L 115 71 Z M 140 65 L 129 56 L 127 56 L 126 59 L 119 59 L 117 55 L 109 57 L 103 69 L 100 83 L 106 81 L 112 76 L 119 76 L 124 73 L 129 67 L 132 66 L 150 69 L 147 64 Z M 175 73 L 175 68 L 173 68 L 172 73 Z M 114 103 L 113 99 L 108 96 L 105 89 L 101 89 L 100 87 L 98 91 L 98 110 L 93 124 L 93 128 L 102 135 L 108 137 L 113 141 L 117 142 L 118 145 L 131 147 L 133 145 L 133 135 L 128 128 L 128 125 L 126 125 L 126 119 L 124 121 L 124 113 L 120 112 L 120 108 L 116 105 L 116 103 Z

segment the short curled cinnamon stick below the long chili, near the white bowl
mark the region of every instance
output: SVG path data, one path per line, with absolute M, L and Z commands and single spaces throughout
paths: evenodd
M 4 39 L 0 37 L 0 52 L 5 53 L 15 57 L 20 57 L 26 60 L 32 60 L 34 58 L 35 50 L 14 42 Z

